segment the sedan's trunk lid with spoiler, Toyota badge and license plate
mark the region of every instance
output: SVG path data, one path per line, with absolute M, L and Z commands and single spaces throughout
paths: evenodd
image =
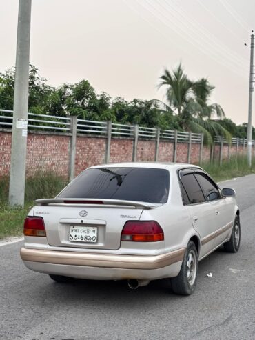
M 112 199 L 40 199 L 34 215 L 44 219 L 50 246 L 119 249 L 126 221 L 161 204 Z M 76 237 L 76 239 L 75 239 Z

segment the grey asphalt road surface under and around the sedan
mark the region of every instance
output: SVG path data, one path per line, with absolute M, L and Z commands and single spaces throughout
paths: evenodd
M 236 189 L 241 248 L 201 261 L 190 297 L 163 280 L 54 283 L 23 266 L 22 241 L 1 246 L 0 339 L 255 339 L 255 175 L 221 186 Z

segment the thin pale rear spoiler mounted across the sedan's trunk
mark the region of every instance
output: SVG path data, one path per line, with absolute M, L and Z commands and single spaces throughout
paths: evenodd
M 162 203 L 147 203 L 137 201 L 125 201 L 122 199 L 37 199 L 36 206 L 115 206 L 126 208 L 152 209 L 161 206 Z

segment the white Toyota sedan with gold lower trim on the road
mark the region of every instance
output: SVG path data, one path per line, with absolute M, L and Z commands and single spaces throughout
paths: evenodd
M 171 279 L 192 294 L 198 261 L 240 246 L 239 209 L 198 166 L 116 163 L 81 172 L 24 223 L 21 258 L 55 281 L 127 279 L 130 288 Z

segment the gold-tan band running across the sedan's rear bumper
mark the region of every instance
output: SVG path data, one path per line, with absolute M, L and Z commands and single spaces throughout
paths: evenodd
M 88 266 L 123 269 L 158 269 L 183 261 L 186 248 L 174 250 L 167 254 L 146 255 L 115 255 L 92 254 L 81 252 L 63 252 L 21 248 L 23 261 L 54 263 L 70 266 Z

